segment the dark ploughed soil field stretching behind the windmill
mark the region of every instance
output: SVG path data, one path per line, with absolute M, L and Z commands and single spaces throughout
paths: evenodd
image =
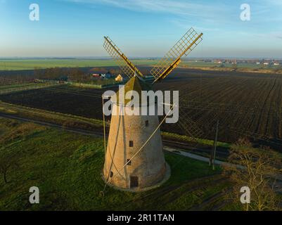
M 150 68 L 142 67 L 148 74 Z M 179 91 L 179 122 L 165 131 L 219 141 L 242 136 L 282 149 L 282 75 L 177 69 L 154 89 Z M 8 103 L 102 118 L 103 90 L 56 86 L 0 96 Z

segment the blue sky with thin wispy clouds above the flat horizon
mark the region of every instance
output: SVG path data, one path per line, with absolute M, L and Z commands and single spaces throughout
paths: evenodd
M 107 56 L 105 35 L 129 57 L 163 56 L 194 27 L 204 40 L 191 57 L 282 58 L 281 12 L 282 0 L 0 0 L 0 57 Z

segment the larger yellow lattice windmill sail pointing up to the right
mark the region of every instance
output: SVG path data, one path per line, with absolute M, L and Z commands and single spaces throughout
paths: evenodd
M 188 32 L 177 41 L 177 44 L 169 50 L 165 57 L 160 60 L 158 65 L 155 65 L 155 67 L 150 70 L 151 75 L 155 77 L 154 83 L 167 77 L 167 75 L 179 65 L 180 58 L 182 56 L 188 56 L 200 41 L 203 40 L 202 36 L 203 33 L 197 34 L 193 28 L 188 30 Z

